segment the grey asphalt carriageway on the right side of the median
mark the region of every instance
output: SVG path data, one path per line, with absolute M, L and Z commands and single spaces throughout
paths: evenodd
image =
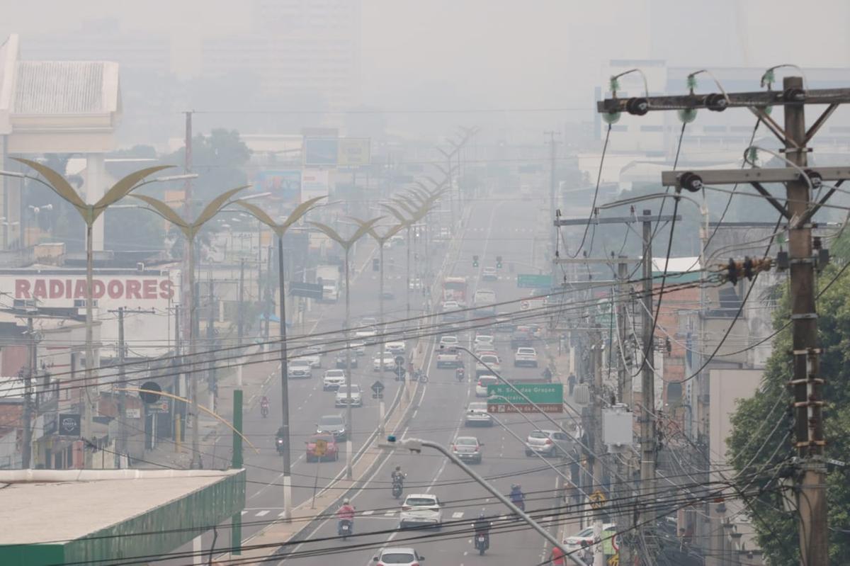
M 459 260 L 452 266 L 451 275 L 466 276 L 470 291 L 489 288 L 496 291 L 497 301 L 511 300 L 528 294 L 516 288 L 515 274 L 507 272 L 507 263 L 513 260 L 530 263 L 530 233 L 518 223 L 517 218 L 532 218 L 536 205 L 530 202 L 484 202 L 475 207 L 463 241 Z M 520 235 L 514 238 L 506 235 Z M 526 235 L 524 239 L 521 235 Z M 479 267 L 473 268 L 472 257 L 479 256 Z M 495 265 L 496 255 L 501 255 L 506 265 L 496 281 L 481 281 L 482 269 Z M 505 308 L 515 310 L 517 307 Z M 492 329 L 481 333 L 494 334 Z M 540 376 L 540 368 L 514 368 L 513 352 L 509 348 L 509 335 L 496 334 L 496 345 L 502 359 L 505 376 L 533 378 Z M 471 344 L 474 331 L 457 334 L 461 343 Z M 538 349 L 542 345 L 538 345 Z M 536 457 L 524 455 L 524 444 L 514 439 L 499 425 L 493 427 L 467 427 L 463 415 L 470 401 L 476 400 L 475 382 L 468 379 L 457 382 L 452 369 L 437 369 L 433 356 L 433 343 L 428 358 L 429 382 L 422 388 L 422 398 L 413 412 L 403 436 L 430 439 L 448 446 L 458 435 L 476 436 L 484 443 L 484 458 L 474 465 L 479 474 L 490 478 L 492 484 L 507 494 L 510 485 L 521 484 L 527 494 L 526 509 L 544 524 L 558 505 L 558 474 Z M 543 357 L 541 356 L 541 360 Z M 473 361 L 467 359 L 467 370 Z M 478 399 L 483 400 L 483 399 Z M 548 427 L 541 416 L 530 415 L 539 427 Z M 501 416 L 502 422 L 513 433 L 525 438 L 533 428 L 519 415 Z M 557 461 L 553 461 L 558 464 Z M 390 491 L 390 473 L 401 466 L 407 473 L 405 495 L 430 493 L 437 495 L 443 506 L 445 526 L 439 532 L 433 529 L 398 530 L 400 501 Z M 402 496 L 403 500 L 404 495 Z M 309 534 L 311 540 L 292 549 L 286 563 L 319 566 L 343 560 L 346 564 L 372 563 L 372 557 L 382 546 L 414 546 L 428 558 L 430 564 L 533 564 L 546 557 L 540 535 L 524 524 L 516 524 L 510 532 L 494 534 L 490 551 L 479 557 L 474 551 L 470 527 L 479 512 L 496 521 L 506 521 L 507 510 L 479 484 L 473 483 L 459 467 L 444 456 L 424 450 L 422 454 L 394 452 L 377 470 L 373 478 L 352 495 L 358 510 L 354 531 L 356 536 L 347 541 L 327 541 L 337 534 L 337 522 L 321 522 Z M 324 549 L 324 550 L 323 550 Z M 325 550 L 336 552 L 325 556 Z

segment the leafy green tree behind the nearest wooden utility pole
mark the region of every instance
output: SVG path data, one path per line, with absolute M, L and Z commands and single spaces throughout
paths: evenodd
M 847 249 L 847 236 L 836 242 L 834 249 Z M 839 246 L 838 244 L 841 244 Z M 819 333 L 824 354 L 820 359 L 820 375 L 824 376 L 825 456 L 850 461 L 850 279 L 842 271 L 847 256 L 835 261 L 819 277 L 821 296 L 818 299 Z M 834 278 L 835 282 L 830 284 Z M 774 328 L 790 320 L 791 309 L 787 288 L 774 314 Z M 764 371 L 762 387 L 750 399 L 741 399 L 732 416 L 728 454 L 738 473 L 766 476 L 757 485 L 768 484 L 775 475 L 774 467 L 795 456 L 791 430 L 791 391 L 785 384 L 792 378 L 791 326 L 774 338 L 774 353 Z M 779 401 L 779 403 L 778 403 Z M 774 429 L 774 425 L 775 426 Z M 830 471 L 827 476 L 829 501 L 830 563 L 844 563 L 850 556 L 850 482 L 847 472 Z M 775 485 L 771 485 L 771 488 Z M 780 495 L 766 491 L 751 503 L 751 518 L 758 541 L 768 563 L 774 566 L 796 566 L 800 562 L 796 513 L 785 512 Z

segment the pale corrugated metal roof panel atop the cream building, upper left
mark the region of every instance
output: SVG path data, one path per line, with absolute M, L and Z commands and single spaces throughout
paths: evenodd
M 104 61 L 19 61 L 14 114 L 103 114 L 115 110 Z M 117 85 L 115 85 L 117 88 Z

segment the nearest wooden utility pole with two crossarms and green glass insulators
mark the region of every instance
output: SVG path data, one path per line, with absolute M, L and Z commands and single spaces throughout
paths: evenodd
M 652 110 L 682 110 L 694 113 L 700 108 L 726 110 L 746 108 L 768 127 L 783 144 L 785 161 L 791 167 L 754 169 L 666 171 L 662 184 L 677 190 L 697 191 L 719 184 L 751 184 L 788 222 L 789 267 L 791 273 L 791 335 L 795 417 L 795 447 L 800 464 L 797 467 L 797 509 L 799 513 L 800 553 L 805 566 L 830 562 L 828 554 L 829 525 L 826 505 L 826 465 L 824 460 L 824 422 L 822 410 L 824 376 L 819 375 L 818 315 L 815 302 L 815 263 L 811 220 L 836 192 L 837 185 L 850 178 L 846 168 L 815 167 L 809 170 L 807 144 L 827 122 L 839 105 L 850 103 L 848 88 L 807 88 L 800 76 L 786 76 L 782 90 L 773 90 L 774 69 L 762 76 L 768 89 L 751 93 L 709 93 L 654 96 L 599 101 L 600 113 L 616 116 L 620 112 L 643 116 Z M 812 126 L 806 129 L 805 105 L 826 105 Z M 784 106 L 785 125 L 765 111 L 775 105 Z M 748 148 L 749 149 L 749 148 Z M 767 173 L 767 174 L 765 174 Z M 802 174 L 801 174 L 802 173 Z M 819 201 L 813 201 L 813 189 L 824 181 L 837 181 Z M 787 203 L 782 204 L 765 188 L 765 184 L 785 183 Z

